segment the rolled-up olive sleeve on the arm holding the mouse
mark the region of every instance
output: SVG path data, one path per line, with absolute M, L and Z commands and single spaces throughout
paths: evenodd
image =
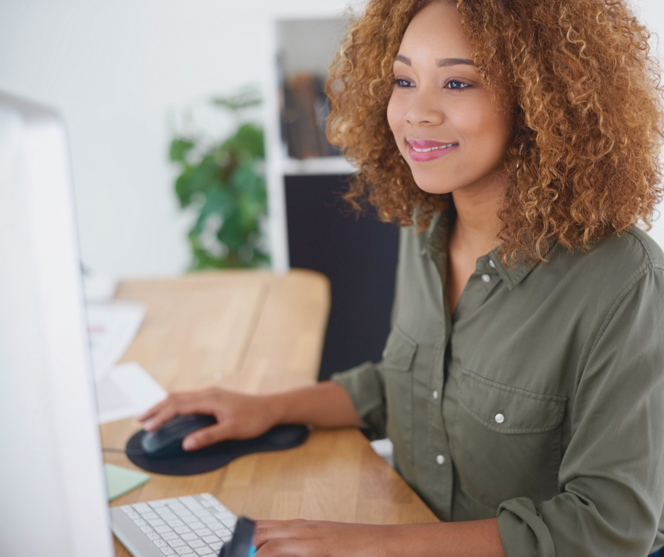
M 331 380 L 346 389 L 355 411 L 371 430 L 372 439 L 385 438 L 387 414 L 380 366 L 365 362 L 350 370 L 335 373 Z

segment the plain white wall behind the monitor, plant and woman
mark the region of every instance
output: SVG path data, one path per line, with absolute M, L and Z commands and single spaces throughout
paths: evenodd
M 637 2 L 664 36 L 664 3 Z M 0 89 L 66 119 L 85 263 L 120 276 L 183 271 L 188 221 L 172 193 L 169 115 L 263 83 L 275 15 L 336 15 L 348 3 L 0 0 Z M 653 235 L 664 246 L 664 218 Z

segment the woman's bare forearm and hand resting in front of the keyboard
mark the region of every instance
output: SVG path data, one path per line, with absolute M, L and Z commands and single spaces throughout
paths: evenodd
M 505 557 L 498 521 L 346 524 L 259 520 L 256 557 Z

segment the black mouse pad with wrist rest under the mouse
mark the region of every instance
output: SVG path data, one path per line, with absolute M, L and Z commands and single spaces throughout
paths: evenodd
M 169 476 L 189 476 L 216 470 L 231 460 L 251 452 L 277 451 L 302 445 L 307 440 L 307 426 L 276 426 L 260 437 L 244 440 L 221 441 L 204 449 L 185 452 L 165 458 L 147 457 L 141 448 L 141 439 L 146 435 L 142 429 L 127 442 L 126 454 L 136 466 Z

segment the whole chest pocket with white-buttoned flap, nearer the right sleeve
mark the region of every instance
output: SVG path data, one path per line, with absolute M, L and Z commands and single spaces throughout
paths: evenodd
M 554 496 L 566 402 L 463 370 L 451 440 L 461 489 L 494 509 L 515 497 Z

